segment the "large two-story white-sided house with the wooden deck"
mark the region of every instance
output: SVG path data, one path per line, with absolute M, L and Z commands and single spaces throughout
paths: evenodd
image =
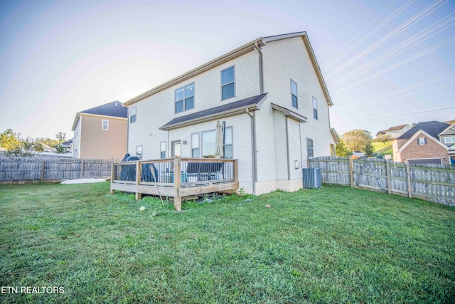
M 332 102 L 306 32 L 257 38 L 124 105 L 128 152 L 143 159 L 213 157 L 225 122 L 225 158 L 240 188 L 261 194 L 302 187 L 308 157 L 335 145 Z

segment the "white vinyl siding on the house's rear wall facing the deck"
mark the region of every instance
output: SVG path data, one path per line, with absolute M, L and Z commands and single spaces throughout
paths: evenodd
M 229 68 L 232 65 L 235 65 L 235 98 L 230 98 L 222 102 L 220 89 L 221 70 Z M 195 90 L 197 90 L 197 96 L 195 96 L 195 98 L 197 97 L 195 100 L 195 105 L 197 103 L 196 108 L 175 113 L 175 90 L 189 83 L 194 83 Z M 185 80 L 182 83 L 173 85 L 138 103 L 134 103 L 132 106 L 137 108 L 137 113 L 143 114 L 141 114 L 141 119 L 129 125 L 128 152 L 133 155 L 137 145 L 144 145 L 144 159 L 156 159 L 160 155 L 159 142 L 168 142 L 168 131 L 159 130 L 159 127 L 162 127 L 173 118 L 218 107 L 259 94 L 259 59 L 257 51 L 252 51 Z M 146 116 L 144 117 L 144 115 Z M 211 128 L 215 128 L 215 125 Z M 250 125 L 248 125 L 248 128 L 250 130 Z M 210 128 L 207 130 L 210 130 Z M 200 132 L 200 130 L 196 131 Z M 189 141 L 190 135 L 177 138 L 176 140 Z M 182 145 L 182 153 L 184 153 L 186 148 L 189 151 L 191 145 Z M 191 156 L 191 154 L 183 155 L 186 155 L 186 157 Z

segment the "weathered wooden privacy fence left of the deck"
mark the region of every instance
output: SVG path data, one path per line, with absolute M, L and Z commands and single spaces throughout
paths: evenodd
M 110 177 L 111 168 L 108 159 L 0 157 L 0 182 Z

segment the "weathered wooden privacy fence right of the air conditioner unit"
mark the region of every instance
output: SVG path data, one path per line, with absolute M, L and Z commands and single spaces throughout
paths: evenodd
M 321 169 L 321 181 L 353 188 L 416 197 L 455 206 L 455 167 L 404 164 L 386 159 L 315 157 L 309 167 Z

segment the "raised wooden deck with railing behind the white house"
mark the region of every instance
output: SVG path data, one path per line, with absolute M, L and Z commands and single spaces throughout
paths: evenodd
M 181 199 L 210 192 L 239 188 L 237 159 L 168 159 L 115 162 L 112 164 L 111 194 L 114 191 L 173 197 L 181 210 Z

